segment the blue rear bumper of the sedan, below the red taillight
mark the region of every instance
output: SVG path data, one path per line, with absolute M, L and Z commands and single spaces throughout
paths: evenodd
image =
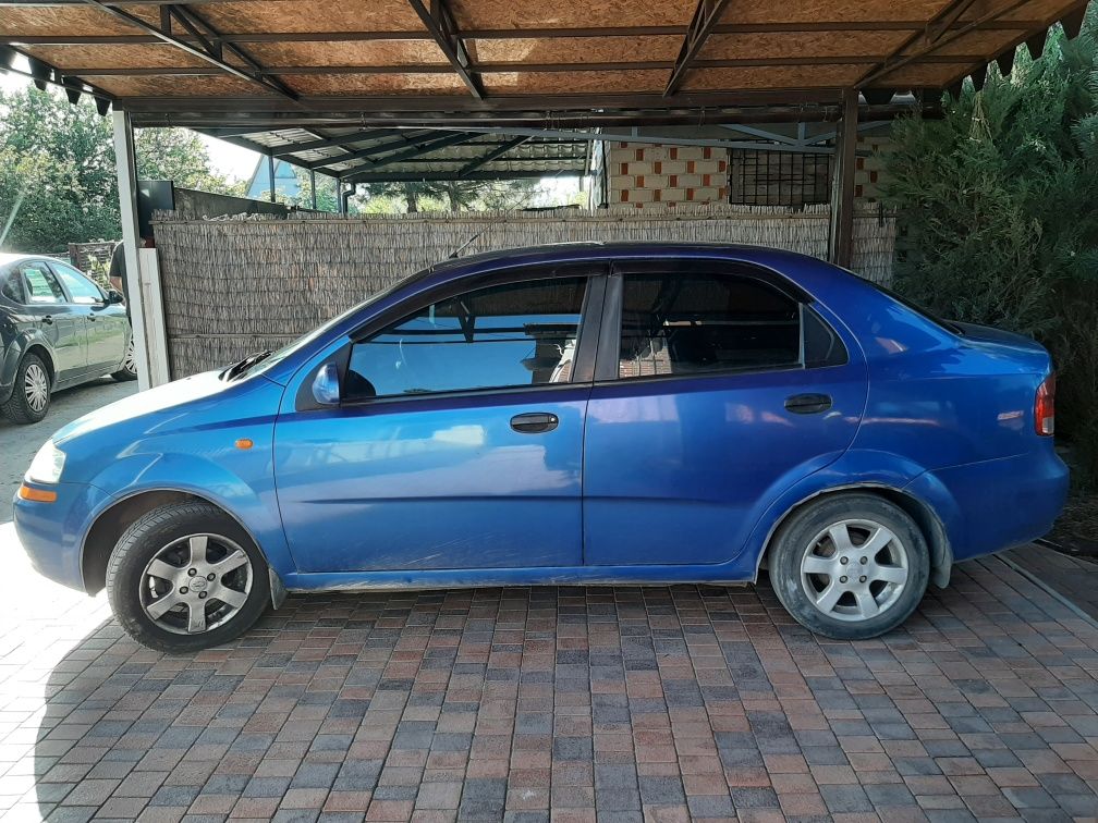
M 935 510 L 953 560 L 962 561 L 1047 534 L 1067 499 L 1068 472 L 1050 441 L 1027 454 L 927 472 L 908 488 L 949 500 Z

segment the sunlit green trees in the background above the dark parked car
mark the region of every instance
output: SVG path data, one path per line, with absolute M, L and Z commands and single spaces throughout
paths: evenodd
M 141 129 L 135 148 L 142 177 L 240 193 L 213 171 L 192 132 Z M 111 121 L 90 101 L 72 105 L 31 86 L 0 94 L 0 234 L 11 222 L 4 249 L 61 251 L 69 243 L 117 238 L 117 191 Z

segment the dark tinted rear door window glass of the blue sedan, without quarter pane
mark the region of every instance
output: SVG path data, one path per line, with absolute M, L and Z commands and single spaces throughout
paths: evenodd
M 797 301 L 752 278 L 626 275 L 618 376 L 799 365 L 800 309 Z

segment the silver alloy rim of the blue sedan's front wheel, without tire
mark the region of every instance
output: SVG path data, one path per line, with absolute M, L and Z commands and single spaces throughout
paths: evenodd
M 161 629 L 201 634 L 231 620 L 251 591 L 247 552 L 220 534 L 189 534 L 158 551 L 141 576 L 141 605 Z

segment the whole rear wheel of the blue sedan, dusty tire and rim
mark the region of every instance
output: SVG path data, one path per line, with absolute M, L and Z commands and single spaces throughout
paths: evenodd
M 918 607 L 930 552 L 906 511 L 874 495 L 849 494 L 809 504 L 783 523 L 771 542 L 769 572 L 777 599 L 806 629 L 866 640 Z

